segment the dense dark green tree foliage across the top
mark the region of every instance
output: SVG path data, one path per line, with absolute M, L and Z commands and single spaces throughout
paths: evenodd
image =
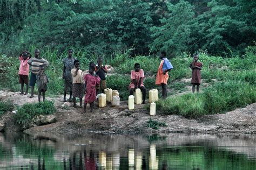
M 0 53 L 84 47 L 98 55 L 199 49 L 223 56 L 252 45 L 256 1 L 3 0 Z

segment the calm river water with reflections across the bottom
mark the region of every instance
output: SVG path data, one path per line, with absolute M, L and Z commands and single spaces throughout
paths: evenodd
M 256 169 L 256 136 L 0 133 L 0 169 Z

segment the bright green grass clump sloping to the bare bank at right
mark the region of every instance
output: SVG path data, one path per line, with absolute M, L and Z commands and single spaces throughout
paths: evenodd
M 157 102 L 165 114 L 186 117 L 217 114 L 244 107 L 256 101 L 256 88 L 246 82 L 217 82 L 199 94 L 170 96 Z

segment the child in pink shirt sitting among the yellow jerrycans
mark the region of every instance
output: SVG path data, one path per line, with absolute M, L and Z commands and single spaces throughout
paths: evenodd
M 135 63 L 134 70 L 131 70 L 131 83 L 129 85 L 130 95 L 133 95 L 134 89 L 139 88 L 143 94 L 143 104 L 145 104 L 146 88 L 143 85 L 144 71 L 140 69 L 139 63 Z

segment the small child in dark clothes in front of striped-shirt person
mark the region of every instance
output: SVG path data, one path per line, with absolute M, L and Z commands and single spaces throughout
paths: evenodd
M 48 77 L 44 73 L 44 67 L 40 66 L 39 72 L 36 75 L 37 88 L 38 88 L 38 102 L 41 100 L 41 94 L 43 94 L 43 102 L 45 101 L 45 92 L 47 91 Z

